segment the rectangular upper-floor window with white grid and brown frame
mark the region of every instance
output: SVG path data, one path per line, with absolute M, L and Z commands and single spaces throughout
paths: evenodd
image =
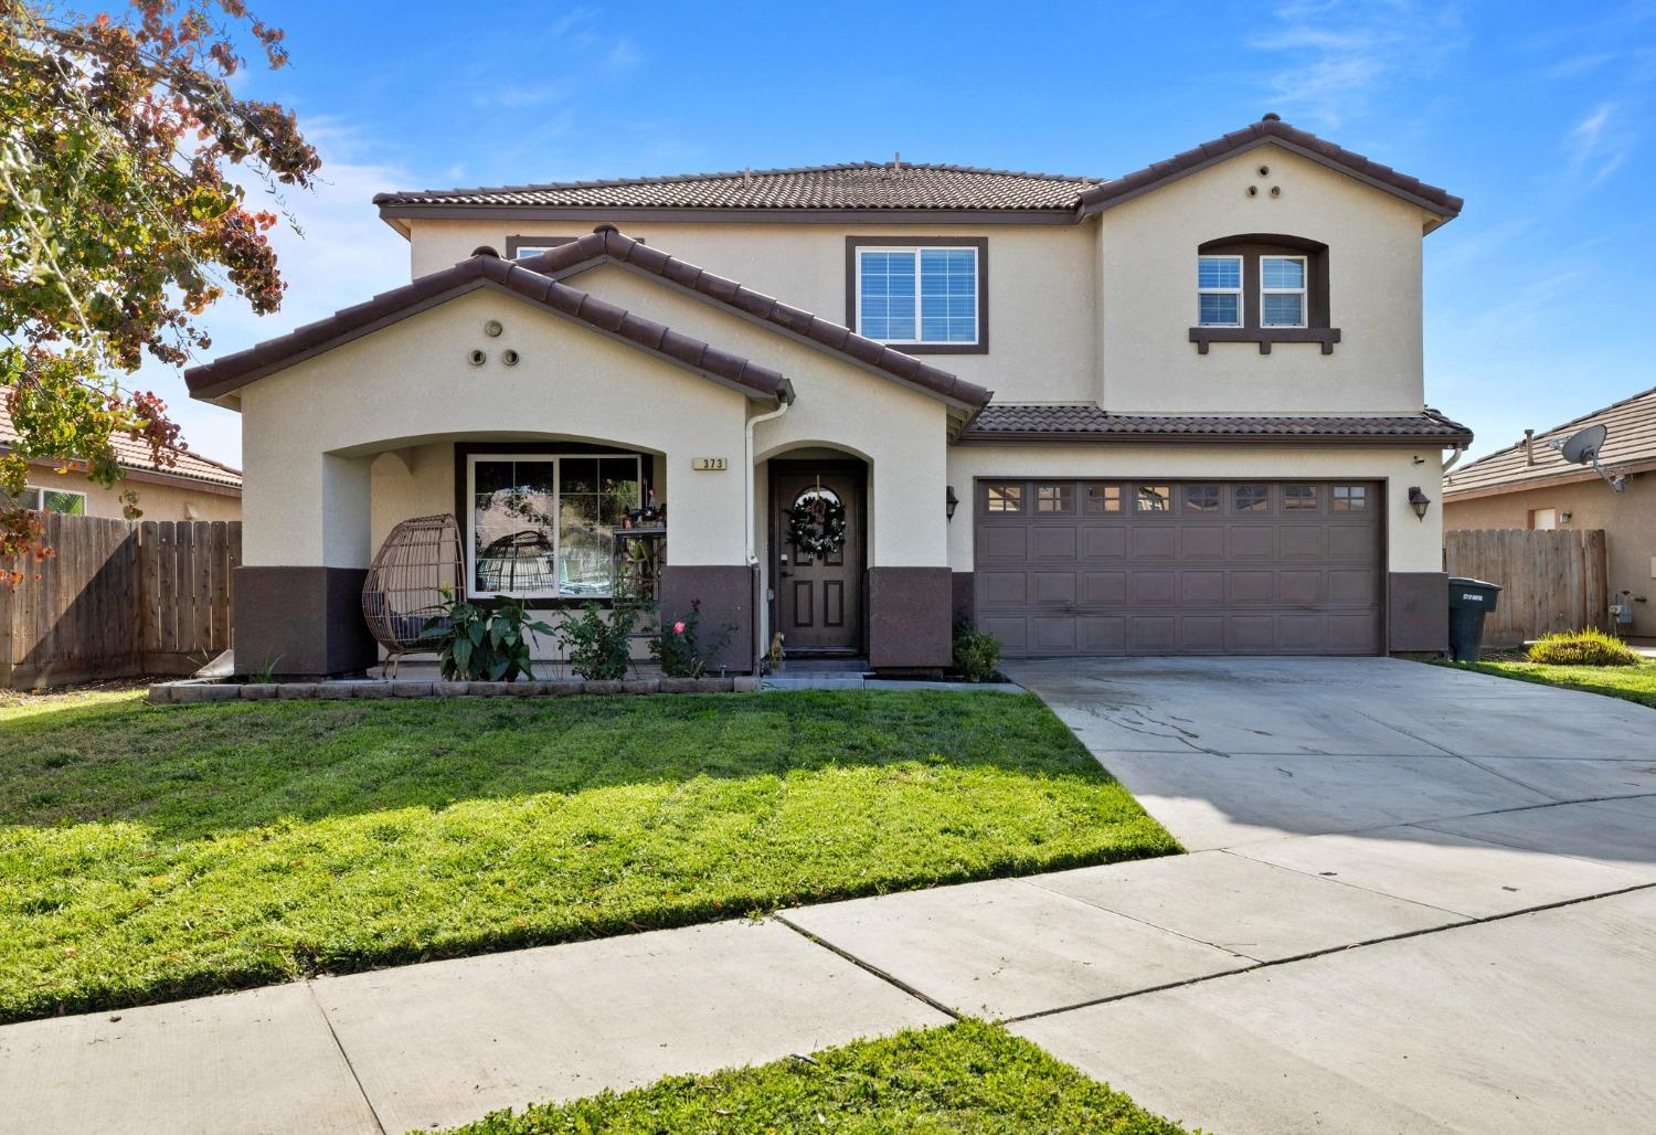
M 989 350 L 989 242 L 846 237 L 846 323 L 911 355 Z

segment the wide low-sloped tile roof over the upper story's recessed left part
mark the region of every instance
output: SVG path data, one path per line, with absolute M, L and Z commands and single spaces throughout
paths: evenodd
M 374 204 L 601 209 L 1075 209 L 1095 177 L 972 166 L 850 162 L 725 174 L 386 192 Z

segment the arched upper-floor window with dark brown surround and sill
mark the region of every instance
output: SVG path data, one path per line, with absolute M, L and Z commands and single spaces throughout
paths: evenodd
M 1320 343 L 1333 353 L 1328 320 L 1328 247 L 1302 237 L 1242 235 L 1209 240 L 1196 255 L 1196 326 L 1191 341 Z

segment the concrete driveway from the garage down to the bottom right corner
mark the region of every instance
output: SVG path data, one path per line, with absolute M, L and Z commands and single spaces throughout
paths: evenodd
M 1656 712 L 1393 659 L 1009 671 L 1194 852 L 1047 885 L 1272 963 L 1017 1032 L 1209 1130 L 1649 1130 Z

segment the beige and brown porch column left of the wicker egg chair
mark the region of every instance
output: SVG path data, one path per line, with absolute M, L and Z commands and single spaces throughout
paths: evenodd
M 250 439 L 252 442 L 253 439 Z M 373 457 L 248 444 L 235 673 L 305 679 L 378 661 L 363 620 Z

